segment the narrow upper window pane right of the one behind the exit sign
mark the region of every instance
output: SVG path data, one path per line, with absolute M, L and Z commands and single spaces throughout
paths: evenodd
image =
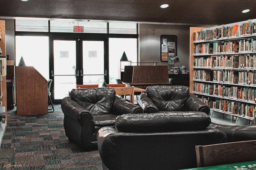
M 136 23 L 109 23 L 110 34 L 137 34 Z

